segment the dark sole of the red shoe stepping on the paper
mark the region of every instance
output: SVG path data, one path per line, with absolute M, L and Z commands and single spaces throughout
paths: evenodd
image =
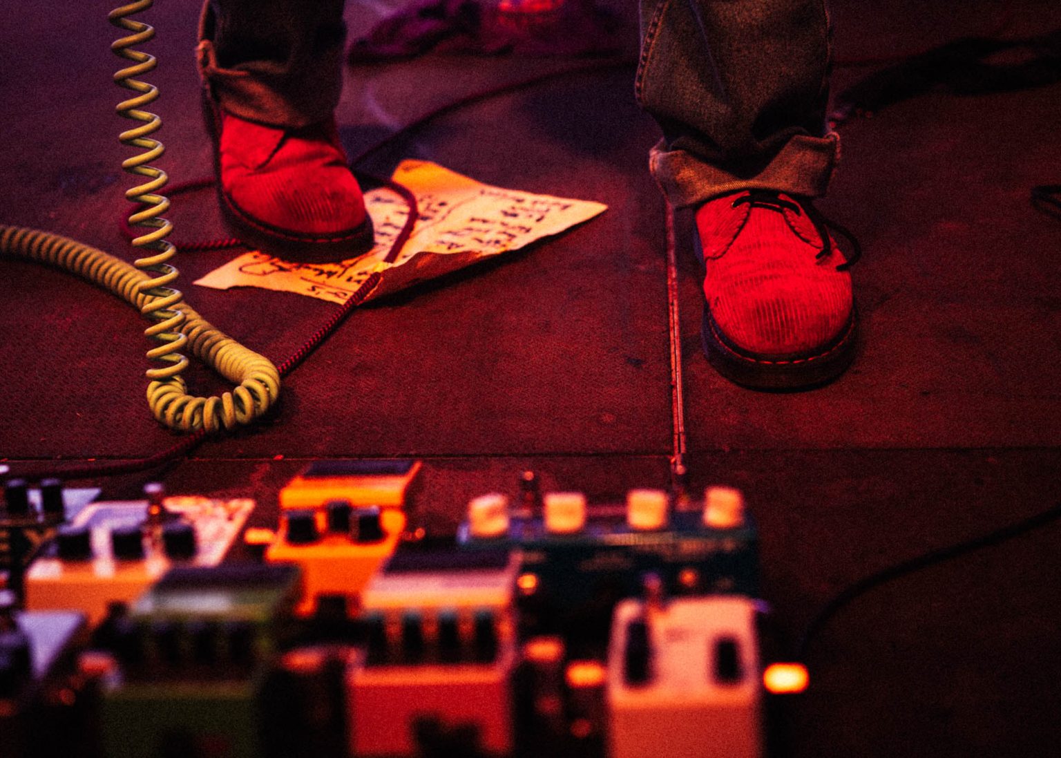
M 221 186 L 221 119 L 220 107 L 204 90 L 202 98 L 203 118 L 213 142 L 213 175 L 216 177 L 218 204 L 222 217 L 229 228 L 244 244 L 265 253 L 275 254 L 284 260 L 298 263 L 336 263 L 356 258 L 372 249 L 376 232 L 372 219 L 365 212 L 365 220 L 353 229 L 335 235 L 300 235 L 281 229 L 255 219 L 228 196 Z

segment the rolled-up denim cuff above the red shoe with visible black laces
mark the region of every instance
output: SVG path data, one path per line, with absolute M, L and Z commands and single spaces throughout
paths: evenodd
M 683 150 L 667 150 L 664 140 L 651 149 L 648 166 L 676 208 L 700 205 L 712 197 L 746 189 L 770 189 L 792 195 L 825 194 L 840 154 L 835 132 L 824 137 L 795 135 L 753 176 L 743 176 L 707 163 Z

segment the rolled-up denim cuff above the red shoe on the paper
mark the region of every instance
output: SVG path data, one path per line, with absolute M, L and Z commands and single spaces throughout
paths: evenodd
M 298 128 L 330 118 L 335 110 L 343 89 L 342 44 L 313 61 L 250 61 L 225 68 L 218 63 L 212 36 L 212 12 L 204 3 L 195 57 L 208 93 L 227 113 Z

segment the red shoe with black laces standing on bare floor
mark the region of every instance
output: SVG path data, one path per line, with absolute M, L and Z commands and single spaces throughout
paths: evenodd
M 696 226 L 707 269 L 703 349 L 719 374 L 790 390 L 850 365 L 857 320 L 847 270 L 857 243 L 845 259 L 807 201 L 765 190 L 705 203 Z

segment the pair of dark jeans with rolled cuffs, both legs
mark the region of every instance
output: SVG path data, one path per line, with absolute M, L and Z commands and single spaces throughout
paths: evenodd
M 638 102 L 663 138 L 649 166 L 678 207 L 741 189 L 824 194 L 824 0 L 641 0 Z M 344 0 L 207 0 L 198 62 L 230 113 L 277 126 L 330 117 Z

